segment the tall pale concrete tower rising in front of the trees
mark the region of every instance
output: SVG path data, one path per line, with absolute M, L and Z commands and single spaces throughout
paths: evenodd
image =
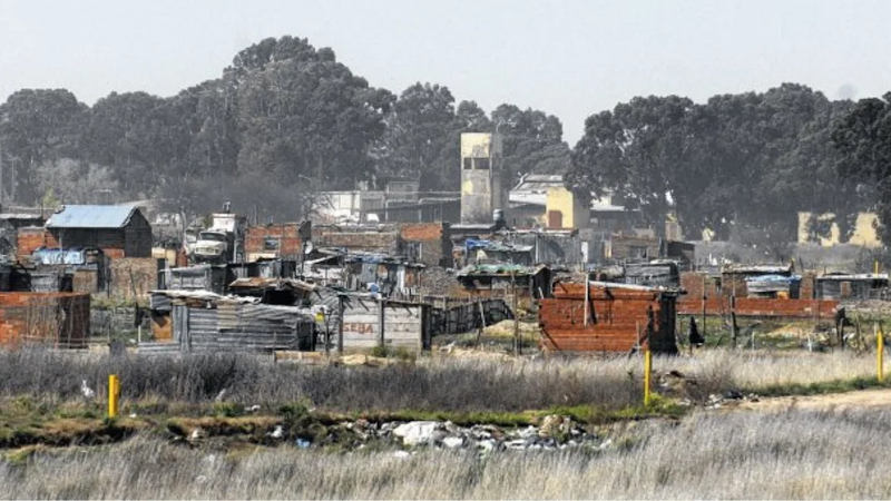
M 501 204 L 501 136 L 461 134 L 461 224 L 490 224 Z

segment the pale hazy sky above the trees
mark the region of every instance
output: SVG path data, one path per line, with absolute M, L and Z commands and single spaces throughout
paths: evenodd
M 216 78 L 266 37 L 306 37 L 371 85 L 448 86 L 487 111 L 585 117 L 638 95 L 765 90 L 830 98 L 891 90 L 888 1 L 0 0 L 0 99 L 63 87 L 170 96 Z

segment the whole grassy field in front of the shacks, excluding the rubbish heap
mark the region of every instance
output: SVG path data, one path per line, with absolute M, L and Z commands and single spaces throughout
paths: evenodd
M 654 412 L 640 405 L 637 355 L 437 354 L 365 367 L 276 364 L 245 355 L 0 352 L 0 435 L 10 446 L 0 460 L 0 497 L 885 497 L 891 478 L 881 465 L 891 448 L 891 412 L 884 407 L 724 412 L 695 405 L 731 390 L 794 395 L 877 386 L 874 364 L 874 354 L 853 352 L 715 348 L 658 356 L 658 402 L 694 405 Z M 124 389 L 125 416 L 114 422 L 102 420 L 109 373 L 120 376 Z M 80 394 L 82 380 L 97 391 L 92 400 Z M 312 407 L 313 419 L 330 421 L 362 414 L 511 426 L 558 413 L 604 433 L 609 445 L 484 455 L 421 448 L 401 458 L 392 450 L 301 450 L 262 441 L 188 446 L 167 432 L 172 423 L 193 421 L 209 430 L 204 423 L 213 421 L 222 430 L 256 434 L 251 430 L 280 423 L 281 410 L 295 402 Z M 254 404 L 260 412 L 244 415 Z M 92 445 L 52 446 L 70 443 Z

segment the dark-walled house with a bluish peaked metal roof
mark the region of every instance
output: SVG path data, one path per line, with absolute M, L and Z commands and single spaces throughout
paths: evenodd
M 99 248 L 110 258 L 151 257 L 151 225 L 136 206 L 67 205 L 45 228 L 59 248 Z

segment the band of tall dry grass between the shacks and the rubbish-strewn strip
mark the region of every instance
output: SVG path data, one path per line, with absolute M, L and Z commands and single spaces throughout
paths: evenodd
M 251 355 L 110 357 L 41 350 L 0 351 L 0 396 L 80 399 L 80 382 L 104 399 L 107 375 L 123 382 L 125 402 L 244 405 L 307 402 L 339 412 L 498 411 L 595 405 L 615 410 L 642 399 L 640 356 L 513 360 L 421 357 L 385 367 L 274 364 Z M 727 390 L 796 391 L 794 385 L 869 377 L 874 355 L 850 352 L 708 350 L 695 356 L 656 357 L 658 373 L 676 370 L 696 380 L 687 396 Z

